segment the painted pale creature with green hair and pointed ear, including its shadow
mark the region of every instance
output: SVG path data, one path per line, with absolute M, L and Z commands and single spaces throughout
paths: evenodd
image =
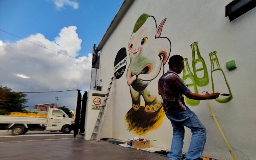
M 165 117 L 162 98 L 156 87 L 171 51 L 170 40 L 160 37 L 165 21 L 157 26 L 154 16 L 140 15 L 128 43 L 130 65 L 126 78 L 132 106 L 125 122 L 127 130 L 137 135 L 158 128 Z

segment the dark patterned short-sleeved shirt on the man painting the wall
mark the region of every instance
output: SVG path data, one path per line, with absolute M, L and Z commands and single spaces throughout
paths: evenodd
M 165 112 L 176 113 L 188 109 L 182 94 L 189 92 L 180 76 L 170 70 L 158 80 L 158 93 L 162 96 Z

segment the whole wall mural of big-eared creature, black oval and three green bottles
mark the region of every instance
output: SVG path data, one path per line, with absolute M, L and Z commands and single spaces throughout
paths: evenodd
M 171 51 L 171 42 L 167 37 L 161 36 L 166 19 L 157 26 L 154 16 L 142 14 L 136 21 L 130 41 L 128 52 L 130 64 L 126 72 L 127 84 L 130 87 L 132 106 L 125 115 L 127 130 L 136 135 L 146 135 L 158 128 L 165 117 L 162 98 L 158 95 L 156 84 L 162 74 Z M 192 49 L 192 70 L 188 58 L 184 58 L 183 80 L 192 92 L 198 93 L 198 87 L 209 84 L 209 76 L 204 58 L 198 49 L 198 42 L 190 45 Z M 225 92 L 230 94 L 227 98 L 219 97 L 217 102 L 226 103 L 233 97 L 230 87 L 220 68 L 216 52 L 210 53 L 212 91 L 215 91 L 214 76 L 222 77 L 226 87 Z M 114 74 L 120 78 L 126 68 L 126 49 L 121 48 L 115 59 Z M 193 72 L 192 72 L 193 71 Z M 218 91 L 219 86 L 218 86 Z M 199 93 L 200 94 L 200 93 Z M 199 100 L 190 100 L 185 97 L 186 104 L 198 106 Z

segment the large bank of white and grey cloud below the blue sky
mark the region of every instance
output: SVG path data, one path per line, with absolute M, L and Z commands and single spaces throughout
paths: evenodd
M 54 41 L 48 40 L 40 33 L 24 39 L 51 50 L 25 40 L 6 44 L 2 48 L 5 54 L 0 52 L 2 86 L 8 86 L 16 92 L 90 89 L 92 54 L 79 57 L 79 59 L 89 61 L 85 62 L 54 52 L 57 51 L 72 57 L 78 55 L 82 40 L 76 33 L 76 26 L 62 28 Z M 18 78 L 18 75 L 13 73 L 22 73 L 19 75 L 22 78 Z M 31 78 L 25 78 L 28 77 L 26 75 Z M 28 105 L 31 107 L 35 104 L 56 103 L 54 97 L 57 96 L 60 97 L 59 106 L 74 108 L 76 91 L 28 94 Z M 71 99 L 74 101 L 70 101 Z

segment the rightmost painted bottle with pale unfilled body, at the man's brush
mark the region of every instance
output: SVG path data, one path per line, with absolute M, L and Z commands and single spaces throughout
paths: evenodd
M 219 98 L 215 99 L 219 103 L 226 103 L 226 102 L 229 102 L 230 100 L 232 100 L 233 96 L 232 96 L 230 87 L 228 85 L 228 81 L 226 79 L 226 76 L 225 76 L 223 70 L 220 67 L 220 63 L 219 63 L 219 60 L 218 60 L 216 54 L 217 54 L 216 51 L 210 52 L 210 54 L 209 54 L 210 60 L 211 60 L 211 68 L 212 68 L 212 71 L 211 71 L 212 92 L 214 93 L 215 90 L 217 92 L 220 92 L 220 90 L 223 90 L 223 93 L 230 94 L 228 97 L 219 96 Z M 220 81 L 223 80 L 225 82 L 221 82 L 219 84 L 219 86 L 217 84 L 214 85 L 214 79 L 215 78 L 218 78 L 218 80 L 220 80 Z M 222 86 L 220 86 L 220 85 L 222 85 Z

